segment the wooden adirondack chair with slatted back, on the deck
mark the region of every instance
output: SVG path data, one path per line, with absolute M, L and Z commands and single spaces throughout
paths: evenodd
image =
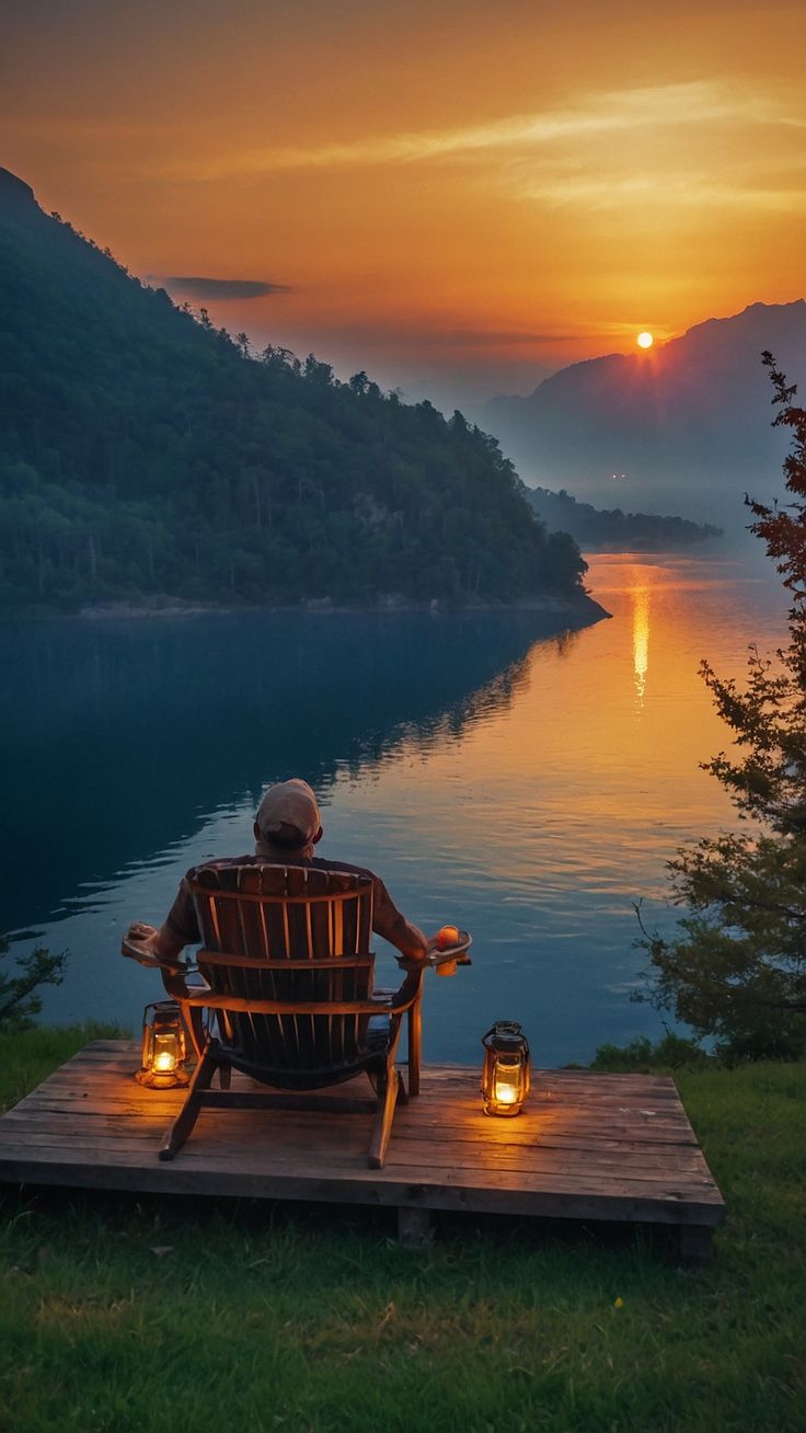
M 375 1113 L 369 1165 L 381 1168 L 397 1101 L 419 1093 L 424 967 L 408 969 L 397 992 L 372 992 L 372 881 L 293 866 L 202 866 L 189 880 L 206 984 L 169 970 L 163 982 L 199 1062 L 159 1158 L 173 1159 L 205 1108 L 349 1108 Z M 408 1091 L 395 1068 L 404 1015 Z M 232 1069 L 285 1093 L 230 1091 Z M 374 1101 L 309 1093 L 361 1072 Z

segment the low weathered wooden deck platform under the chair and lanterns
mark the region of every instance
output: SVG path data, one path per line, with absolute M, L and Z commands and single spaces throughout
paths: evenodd
M 96 1040 L 56 1070 L 0 1119 L 0 1181 L 387 1205 L 411 1242 L 432 1209 L 646 1221 L 677 1225 L 694 1260 L 724 1218 L 667 1078 L 535 1070 L 523 1113 L 492 1119 L 477 1069 L 428 1066 L 419 1098 L 398 1106 L 385 1166 L 369 1169 L 366 1115 L 296 1111 L 205 1111 L 160 1162 L 183 1092 L 140 1088 L 137 1065 L 135 1042 Z

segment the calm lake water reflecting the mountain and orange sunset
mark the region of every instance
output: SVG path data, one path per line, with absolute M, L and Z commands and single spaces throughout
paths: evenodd
M 428 976 L 425 1055 L 475 1062 L 518 1019 L 541 1065 L 663 1033 L 630 1003 L 633 903 L 667 929 L 664 861 L 734 824 L 699 770 L 726 744 L 697 665 L 742 674 L 786 602 L 769 566 L 594 557 L 613 613 L 548 635 L 534 613 L 246 613 L 0 631 L 6 791 L 0 929 L 69 950 L 43 1017 L 135 1029 L 157 999 L 119 956 L 183 871 L 251 850 L 265 784 L 321 795 L 318 854 L 375 868 L 418 924 L 474 936 Z M 378 941 L 382 947 L 382 941 Z M 382 983 L 395 982 L 388 947 Z

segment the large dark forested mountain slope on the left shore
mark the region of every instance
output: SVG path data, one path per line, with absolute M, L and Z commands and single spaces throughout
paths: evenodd
M 494 438 L 216 331 L 0 171 L 0 606 L 581 596 Z M 583 599 L 584 600 L 584 599 Z

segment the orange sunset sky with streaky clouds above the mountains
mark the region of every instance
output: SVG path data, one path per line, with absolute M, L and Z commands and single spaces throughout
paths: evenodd
M 806 294 L 805 54 L 802 3 L 37 0 L 0 163 L 152 282 L 282 285 L 208 299 L 258 347 L 470 407 Z

